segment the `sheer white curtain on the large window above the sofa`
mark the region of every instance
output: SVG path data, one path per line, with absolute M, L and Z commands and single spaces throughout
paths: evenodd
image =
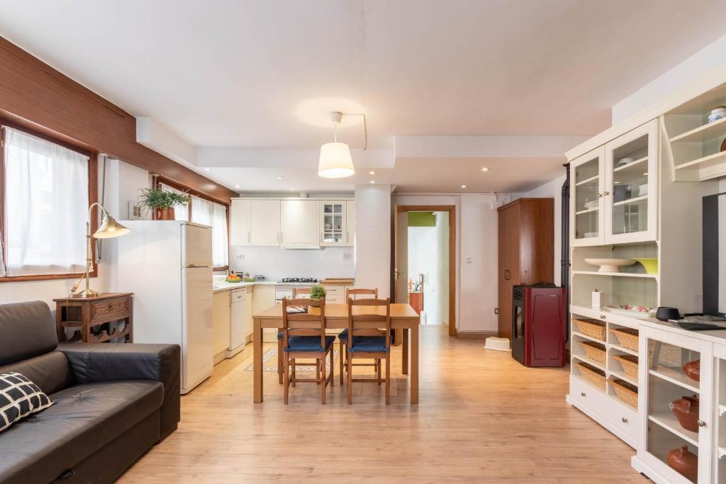
M 7 275 L 85 271 L 89 158 L 5 130 Z

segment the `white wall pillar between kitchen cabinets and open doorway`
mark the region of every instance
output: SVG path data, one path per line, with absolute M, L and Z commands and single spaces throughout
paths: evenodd
M 356 185 L 356 286 L 391 294 L 391 185 Z

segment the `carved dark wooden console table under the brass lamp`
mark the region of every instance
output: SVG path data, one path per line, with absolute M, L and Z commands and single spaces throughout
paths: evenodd
M 106 343 L 123 337 L 134 340 L 133 292 L 104 292 L 95 298 L 60 298 L 55 301 L 58 341 Z M 111 323 L 123 321 L 123 329 L 111 329 Z M 66 328 L 76 328 L 73 337 Z

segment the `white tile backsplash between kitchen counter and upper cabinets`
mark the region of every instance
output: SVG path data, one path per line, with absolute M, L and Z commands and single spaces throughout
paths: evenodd
M 235 272 L 261 274 L 267 279 L 354 277 L 354 247 L 295 250 L 232 246 L 229 250 L 229 267 Z

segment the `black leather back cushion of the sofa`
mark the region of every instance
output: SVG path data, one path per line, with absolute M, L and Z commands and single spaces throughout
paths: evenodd
M 49 353 L 58 345 L 55 324 L 42 301 L 0 305 L 0 365 Z

